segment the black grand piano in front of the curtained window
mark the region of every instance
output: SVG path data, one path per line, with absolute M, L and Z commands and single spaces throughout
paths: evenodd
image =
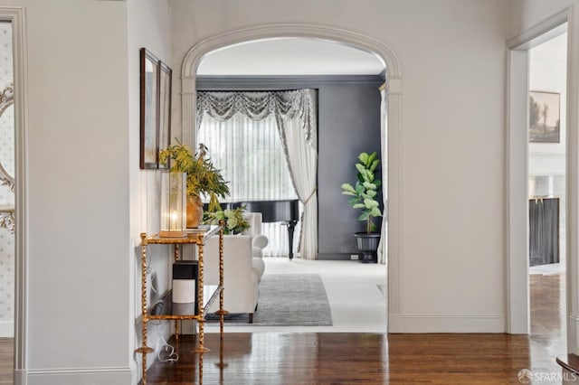
M 288 227 L 289 259 L 293 259 L 293 231 L 299 221 L 299 200 L 244 201 L 224 203 L 229 208 L 245 206 L 245 211 L 261 212 L 264 223 L 282 222 Z

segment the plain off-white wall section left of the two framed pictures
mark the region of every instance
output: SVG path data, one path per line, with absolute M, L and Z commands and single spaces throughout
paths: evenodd
M 24 7 L 26 17 L 28 310 L 16 380 L 130 383 L 128 181 L 138 163 L 128 131 L 128 5 L 4 5 Z

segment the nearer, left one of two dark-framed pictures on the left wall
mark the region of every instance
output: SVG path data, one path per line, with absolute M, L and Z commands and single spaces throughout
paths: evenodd
M 140 51 L 141 150 L 140 167 L 158 167 L 159 61 L 146 48 Z

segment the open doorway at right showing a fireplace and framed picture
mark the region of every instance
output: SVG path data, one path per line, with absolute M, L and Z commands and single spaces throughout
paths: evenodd
M 530 333 L 566 352 L 567 33 L 528 56 Z

